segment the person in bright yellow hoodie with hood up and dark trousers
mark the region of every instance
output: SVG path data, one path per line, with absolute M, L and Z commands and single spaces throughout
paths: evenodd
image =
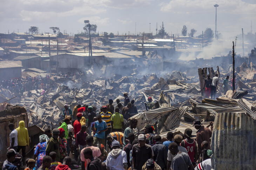
M 25 122 L 21 120 L 19 122 L 19 127 L 16 128 L 18 132 L 18 150 L 17 152 L 22 151 L 23 163 L 26 160 L 26 146 L 29 145 L 28 129 L 25 128 Z

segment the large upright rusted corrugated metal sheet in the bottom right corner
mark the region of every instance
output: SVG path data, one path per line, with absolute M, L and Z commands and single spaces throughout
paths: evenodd
M 255 169 L 256 120 L 244 113 L 217 113 L 214 122 L 212 169 Z

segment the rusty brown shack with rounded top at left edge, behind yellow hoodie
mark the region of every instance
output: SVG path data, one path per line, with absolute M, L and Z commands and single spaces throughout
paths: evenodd
M 7 102 L 0 104 L 0 161 L 6 160 L 7 148 L 10 146 L 9 135 L 11 132 L 8 128 L 9 123 L 13 123 L 14 127 L 17 128 L 21 120 L 25 121 L 25 126 L 28 127 L 28 115 L 24 107 L 12 106 Z

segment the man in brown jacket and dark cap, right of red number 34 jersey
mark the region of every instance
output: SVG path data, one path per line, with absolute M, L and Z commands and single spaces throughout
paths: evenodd
M 201 144 L 203 141 L 207 141 L 210 143 L 210 137 L 211 137 L 211 130 L 207 127 L 202 126 L 203 124 L 201 123 L 200 120 L 195 120 L 194 121 L 194 127 L 197 130 L 196 132 L 196 143 L 197 143 L 197 157 L 199 157 L 198 154 L 201 153 L 202 148 Z M 206 149 L 211 149 L 210 145 Z

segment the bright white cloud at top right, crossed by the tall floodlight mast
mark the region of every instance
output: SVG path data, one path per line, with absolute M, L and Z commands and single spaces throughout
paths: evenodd
M 161 11 L 178 14 L 191 13 L 212 13 L 215 0 L 171 0 L 162 4 Z M 222 0 L 217 3 L 217 10 L 229 14 L 256 14 L 256 4 L 242 0 Z

